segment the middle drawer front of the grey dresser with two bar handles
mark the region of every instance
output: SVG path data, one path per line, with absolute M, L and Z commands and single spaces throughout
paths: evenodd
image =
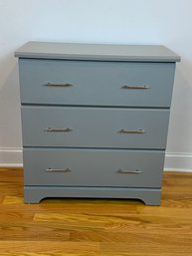
M 24 146 L 165 148 L 168 110 L 23 107 Z

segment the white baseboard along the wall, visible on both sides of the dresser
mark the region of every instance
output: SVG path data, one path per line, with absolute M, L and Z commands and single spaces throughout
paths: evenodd
M 23 149 L 20 147 L 0 148 L 0 166 L 22 167 Z M 192 172 L 192 154 L 167 152 L 165 154 L 165 170 Z

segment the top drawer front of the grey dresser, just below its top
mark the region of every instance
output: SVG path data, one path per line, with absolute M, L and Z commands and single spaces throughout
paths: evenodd
M 174 63 L 20 59 L 23 104 L 170 107 Z

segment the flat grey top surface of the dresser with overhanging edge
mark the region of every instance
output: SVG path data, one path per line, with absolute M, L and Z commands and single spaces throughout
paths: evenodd
M 31 41 L 15 52 L 19 58 L 179 62 L 180 57 L 161 45 L 78 44 Z

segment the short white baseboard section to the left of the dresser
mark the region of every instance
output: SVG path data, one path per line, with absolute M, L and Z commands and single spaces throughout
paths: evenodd
M 22 167 L 23 149 L 18 147 L 0 148 L 0 167 Z

